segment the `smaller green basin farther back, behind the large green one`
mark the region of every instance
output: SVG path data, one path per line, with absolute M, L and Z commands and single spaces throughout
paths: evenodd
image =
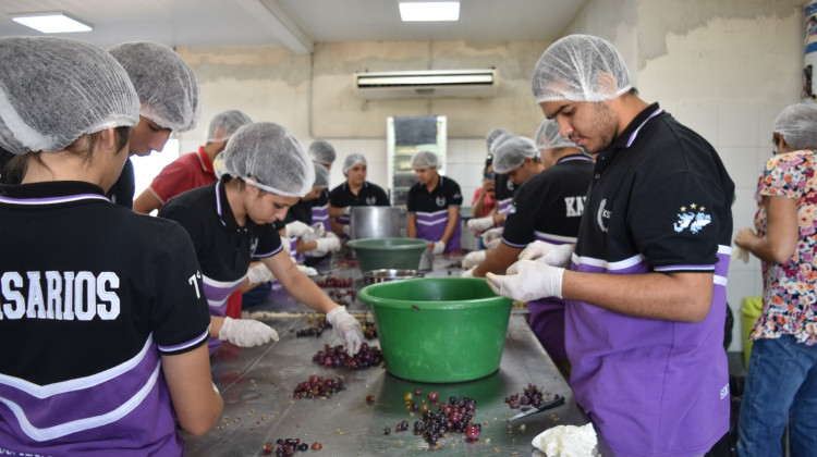
M 362 272 L 371 270 L 417 270 L 429 243 L 417 238 L 363 238 L 346 242 L 355 250 Z

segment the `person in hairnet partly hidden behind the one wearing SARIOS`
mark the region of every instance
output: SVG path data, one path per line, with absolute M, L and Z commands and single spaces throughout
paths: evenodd
M 123 42 L 108 49 L 131 77 L 139 97 L 139 123 L 131 134 L 130 156 L 161 151 L 173 132 L 193 129 L 202 116 L 198 82 L 193 70 L 164 45 Z M 108 196 L 133 208 L 133 163 L 129 159 Z

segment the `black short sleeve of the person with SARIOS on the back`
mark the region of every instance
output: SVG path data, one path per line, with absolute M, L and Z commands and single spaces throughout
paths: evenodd
M 182 354 L 207 343 L 210 311 L 190 237 L 170 225 L 157 244 L 153 271 L 157 304 L 150 310 L 154 341 L 162 354 Z

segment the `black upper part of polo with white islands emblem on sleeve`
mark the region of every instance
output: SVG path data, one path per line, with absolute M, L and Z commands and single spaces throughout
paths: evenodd
M 576 254 L 711 271 L 731 245 L 733 195 L 709 143 L 654 103 L 596 159 Z

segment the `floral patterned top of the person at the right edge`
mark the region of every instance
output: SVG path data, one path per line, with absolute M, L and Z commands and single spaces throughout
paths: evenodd
M 757 184 L 755 227 L 767 232 L 764 197 L 797 200 L 797 247 L 785 263 L 763 262 L 764 309 L 749 339 L 793 335 L 817 344 L 817 151 L 783 153 L 766 162 Z

